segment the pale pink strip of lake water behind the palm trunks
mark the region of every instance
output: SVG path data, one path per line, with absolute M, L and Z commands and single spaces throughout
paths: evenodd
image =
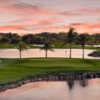
M 100 59 L 100 57 L 90 57 L 88 54 L 93 50 L 85 49 L 85 58 Z M 27 49 L 22 52 L 23 58 L 40 58 L 45 57 L 45 51 L 40 49 Z M 69 49 L 54 49 L 48 51 L 48 57 L 68 58 Z M 0 49 L 0 58 L 19 58 L 19 51 L 17 49 Z M 72 58 L 82 58 L 82 49 L 72 49 Z

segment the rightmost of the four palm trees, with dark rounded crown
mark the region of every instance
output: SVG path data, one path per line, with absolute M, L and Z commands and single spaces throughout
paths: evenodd
M 86 44 L 86 42 L 87 42 L 87 40 L 88 40 L 88 34 L 80 34 L 79 35 L 79 37 L 78 37 L 79 39 L 79 43 L 81 44 L 81 46 L 82 46 L 82 58 L 83 58 L 83 60 L 84 60 L 84 58 L 85 58 L 85 44 Z

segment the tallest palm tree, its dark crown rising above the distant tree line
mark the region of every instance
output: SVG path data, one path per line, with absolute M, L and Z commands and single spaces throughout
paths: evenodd
M 67 42 L 69 43 L 69 48 L 70 48 L 70 54 L 69 54 L 69 58 L 72 58 L 72 43 L 76 37 L 76 33 L 74 32 L 74 28 L 70 28 L 68 34 L 67 34 Z

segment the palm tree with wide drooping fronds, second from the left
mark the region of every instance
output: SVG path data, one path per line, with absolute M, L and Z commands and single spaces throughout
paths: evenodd
M 51 42 L 49 42 L 49 41 L 46 40 L 46 39 L 44 40 L 43 47 L 41 47 L 40 49 L 44 49 L 44 50 L 45 50 L 45 58 L 46 58 L 46 59 L 47 59 L 47 57 L 48 57 L 48 50 L 53 51 Z

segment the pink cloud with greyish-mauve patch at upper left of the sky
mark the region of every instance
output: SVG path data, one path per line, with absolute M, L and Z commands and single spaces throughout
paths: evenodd
M 6 4 L 6 3 L 5 3 Z M 34 14 L 40 15 L 53 15 L 56 14 L 54 11 L 49 9 L 42 9 L 37 5 L 31 5 L 26 3 L 14 3 L 11 5 L 0 5 L 1 9 L 8 12 L 9 14 L 21 15 L 21 16 L 32 16 Z

